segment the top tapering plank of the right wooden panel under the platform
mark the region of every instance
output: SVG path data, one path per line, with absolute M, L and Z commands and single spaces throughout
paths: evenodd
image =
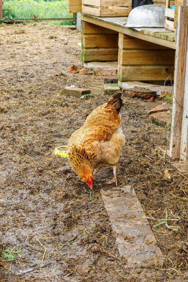
M 167 47 L 119 33 L 118 46 L 121 49 L 167 49 Z

